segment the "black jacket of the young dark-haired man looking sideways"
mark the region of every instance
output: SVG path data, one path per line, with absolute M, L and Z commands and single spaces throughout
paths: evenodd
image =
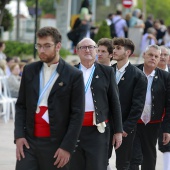
M 116 71 L 116 64 L 112 65 Z M 131 63 L 118 83 L 123 130 L 130 133 L 137 125 L 146 97 L 147 78 Z

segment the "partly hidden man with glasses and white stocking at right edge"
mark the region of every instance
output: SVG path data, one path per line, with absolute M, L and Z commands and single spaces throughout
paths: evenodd
M 170 72 L 170 68 L 168 67 L 170 51 L 165 46 L 161 46 L 160 48 L 161 48 L 161 57 L 158 63 L 158 68 Z M 166 145 L 164 144 L 162 128 L 160 128 L 158 144 L 159 144 L 159 150 L 163 153 L 164 169 L 170 169 L 170 142 Z

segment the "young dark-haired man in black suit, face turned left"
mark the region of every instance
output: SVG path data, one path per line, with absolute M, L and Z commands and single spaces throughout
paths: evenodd
M 112 67 L 119 88 L 123 122 L 123 141 L 121 147 L 116 150 L 118 170 L 129 168 L 136 125 L 144 108 L 147 89 L 145 75 L 129 62 L 134 49 L 134 43 L 128 38 L 113 39 L 113 59 L 117 63 Z

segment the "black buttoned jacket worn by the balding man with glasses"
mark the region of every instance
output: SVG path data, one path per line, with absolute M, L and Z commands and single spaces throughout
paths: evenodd
M 90 88 L 96 113 L 96 123 L 101 123 L 112 117 L 114 132 L 122 132 L 121 108 L 114 70 L 109 66 L 94 64 L 95 71 Z M 79 64 L 76 67 L 79 68 Z

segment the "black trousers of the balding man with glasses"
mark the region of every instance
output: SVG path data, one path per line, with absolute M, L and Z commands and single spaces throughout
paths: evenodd
M 70 170 L 107 170 L 109 136 L 108 123 L 104 133 L 96 126 L 83 126 Z

